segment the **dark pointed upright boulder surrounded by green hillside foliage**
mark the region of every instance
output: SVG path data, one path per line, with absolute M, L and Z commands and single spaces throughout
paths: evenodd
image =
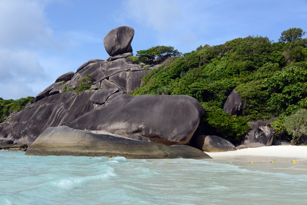
M 233 90 L 227 97 L 223 109 L 225 112 L 230 113 L 231 115 L 238 116 L 241 108 L 242 108 L 242 100 L 239 94 L 235 90 Z

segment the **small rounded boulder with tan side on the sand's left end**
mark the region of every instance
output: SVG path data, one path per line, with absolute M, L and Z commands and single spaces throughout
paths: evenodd
M 225 152 L 236 150 L 231 142 L 215 135 L 199 135 L 195 139 L 195 145 L 205 152 Z

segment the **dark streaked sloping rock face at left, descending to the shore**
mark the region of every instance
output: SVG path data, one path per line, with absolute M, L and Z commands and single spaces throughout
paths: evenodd
M 77 95 L 64 92 L 27 106 L 10 120 L 0 124 L 0 134 L 14 143 L 30 145 L 48 127 L 70 123 L 94 108 L 90 101 L 94 90 Z

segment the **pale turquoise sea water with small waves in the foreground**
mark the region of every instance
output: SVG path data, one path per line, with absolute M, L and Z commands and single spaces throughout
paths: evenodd
M 14 156 L 14 158 L 11 158 Z M 306 204 L 306 166 L 0 151 L 0 204 Z M 170 161 L 170 162 L 169 162 Z

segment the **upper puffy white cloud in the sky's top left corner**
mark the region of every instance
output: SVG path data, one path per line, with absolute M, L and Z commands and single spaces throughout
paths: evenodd
M 38 1 L 0 0 L 0 28 L 1 47 L 37 49 L 54 44 Z

